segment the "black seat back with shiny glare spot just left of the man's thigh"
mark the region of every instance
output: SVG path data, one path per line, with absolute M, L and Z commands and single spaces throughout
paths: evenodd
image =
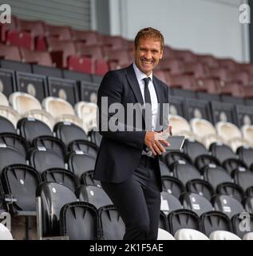
M 113 205 L 113 202 L 105 191 L 97 186 L 79 186 L 76 195 L 80 201 L 89 202 L 97 209 L 102 206 Z

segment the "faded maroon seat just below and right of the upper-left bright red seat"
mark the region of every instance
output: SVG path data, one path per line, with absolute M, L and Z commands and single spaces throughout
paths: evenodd
M 51 55 L 47 51 L 31 51 L 21 48 L 20 53 L 23 62 L 36 63 L 42 66 L 53 66 Z

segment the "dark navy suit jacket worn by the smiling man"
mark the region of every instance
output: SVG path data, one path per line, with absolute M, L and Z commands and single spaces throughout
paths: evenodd
M 157 123 L 156 130 L 163 130 L 168 127 L 168 113 L 164 113 L 163 105 L 161 103 L 168 103 L 168 86 L 155 76 L 152 78 L 156 90 L 157 101 L 160 103 L 158 115 L 160 116 L 161 123 Z M 119 116 L 121 116 L 121 122 L 117 122 L 117 125 L 121 126 L 121 128 L 125 128 L 125 131 L 102 130 L 102 126 L 108 125 L 109 119 L 113 116 L 113 114 L 109 114 L 109 117 L 106 117 L 108 111 L 105 106 L 101 107 L 102 97 L 108 98 L 109 106 L 112 103 L 121 103 L 122 109 L 118 111 L 118 113 L 120 113 Z M 124 120 L 122 116 L 125 114 L 125 117 L 127 117 L 127 103 L 144 104 L 140 86 L 132 65 L 121 70 L 109 71 L 105 74 L 101 86 L 98 89 L 97 122 L 99 133 L 102 135 L 102 140 L 94 170 L 94 178 L 96 180 L 102 182 L 124 182 L 139 165 L 142 150 L 144 148 L 144 136 L 146 132 L 144 128 L 141 129 L 136 122 L 133 122 L 133 126 L 139 128 L 139 130 L 126 130 L 128 120 L 127 118 Z M 140 111 L 139 114 L 141 115 L 140 109 L 137 108 L 136 111 Z M 143 124 L 144 116 L 141 122 L 142 127 L 144 127 Z M 156 161 L 158 166 L 157 169 L 160 174 L 157 156 Z

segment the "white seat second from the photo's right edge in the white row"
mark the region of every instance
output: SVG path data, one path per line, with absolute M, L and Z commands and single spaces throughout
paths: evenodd
M 223 139 L 223 142 L 236 152 L 239 146 L 249 146 L 248 142 L 243 138 L 239 128 L 231 122 L 217 122 L 217 134 Z

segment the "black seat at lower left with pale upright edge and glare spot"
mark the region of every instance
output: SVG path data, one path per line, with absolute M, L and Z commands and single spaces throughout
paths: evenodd
M 38 198 L 38 238 L 60 235 L 61 207 L 77 202 L 75 194 L 68 187 L 55 182 L 42 182 L 36 191 Z

